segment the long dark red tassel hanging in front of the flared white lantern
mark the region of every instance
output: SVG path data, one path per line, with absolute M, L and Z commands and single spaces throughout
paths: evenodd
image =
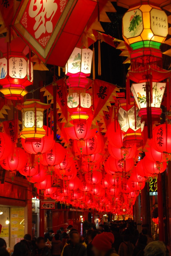
M 147 102 L 147 130 L 148 138 L 152 138 L 152 113 L 151 113 L 151 93 L 150 93 L 150 83 L 146 82 L 146 102 Z

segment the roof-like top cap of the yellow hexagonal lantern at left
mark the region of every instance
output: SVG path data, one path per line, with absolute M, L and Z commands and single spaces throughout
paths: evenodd
M 19 110 L 21 109 L 27 109 L 27 108 L 39 108 L 39 109 L 49 109 L 50 104 L 46 104 L 43 102 L 40 102 L 40 100 L 35 100 L 35 99 L 28 99 L 24 102 L 24 105 L 17 105 L 17 108 Z

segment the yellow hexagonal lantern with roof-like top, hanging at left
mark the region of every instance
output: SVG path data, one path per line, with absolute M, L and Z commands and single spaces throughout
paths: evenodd
M 26 142 L 39 141 L 46 135 L 43 129 L 43 112 L 50 108 L 50 104 L 45 104 L 39 100 L 27 100 L 23 106 L 17 106 L 22 112 L 22 130 L 20 137 Z

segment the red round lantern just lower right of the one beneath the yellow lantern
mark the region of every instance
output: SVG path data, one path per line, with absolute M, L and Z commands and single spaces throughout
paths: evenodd
M 63 146 L 60 143 L 56 142 L 50 151 L 42 154 L 42 157 L 40 158 L 40 162 L 43 165 L 53 166 L 53 165 L 60 164 L 64 159 L 64 157 L 65 157 L 65 150 Z

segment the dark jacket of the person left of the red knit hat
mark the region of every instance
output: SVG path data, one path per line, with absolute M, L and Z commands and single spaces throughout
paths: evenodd
M 84 245 L 73 246 L 71 243 L 64 248 L 63 256 L 87 256 L 87 251 Z

